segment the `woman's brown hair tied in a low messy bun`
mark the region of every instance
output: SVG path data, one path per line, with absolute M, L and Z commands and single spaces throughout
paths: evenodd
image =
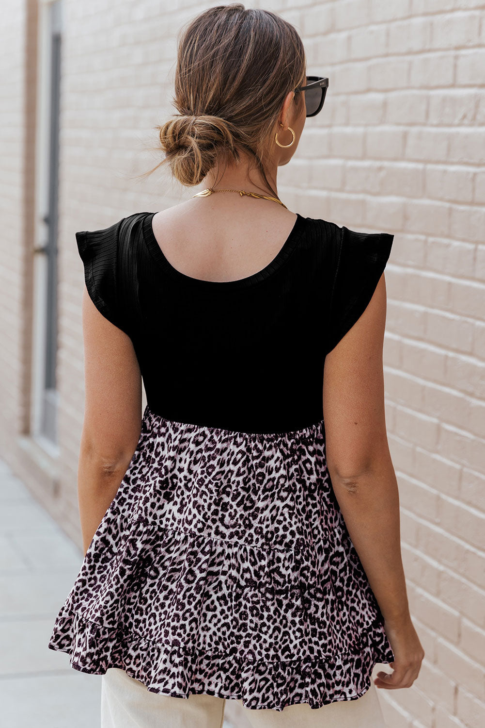
M 204 10 L 180 33 L 178 114 L 155 127 L 165 157 L 147 174 L 168 163 L 175 178 L 195 186 L 216 165 L 239 162 L 244 150 L 271 189 L 264 169 L 271 132 L 286 94 L 305 79 L 300 36 L 275 13 L 241 3 Z M 300 92 L 294 103 L 299 110 Z

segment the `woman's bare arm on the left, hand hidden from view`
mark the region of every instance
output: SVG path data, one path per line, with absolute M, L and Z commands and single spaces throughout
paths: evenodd
M 86 553 L 121 485 L 141 433 L 141 373 L 132 340 L 82 297 L 84 422 L 78 502 Z

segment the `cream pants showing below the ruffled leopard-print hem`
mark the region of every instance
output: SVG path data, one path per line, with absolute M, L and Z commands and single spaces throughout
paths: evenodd
M 385 728 L 371 687 L 357 700 L 342 700 L 312 710 L 308 703 L 287 705 L 283 711 L 249 710 L 253 728 Z M 171 697 L 148 692 L 124 670 L 108 668 L 101 678 L 101 728 L 222 728 L 225 699 L 212 695 Z

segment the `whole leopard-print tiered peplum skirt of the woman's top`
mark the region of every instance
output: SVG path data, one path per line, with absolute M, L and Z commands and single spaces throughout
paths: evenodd
M 71 666 L 246 708 L 356 700 L 393 662 L 326 467 L 324 422 L 247 433 L 148 407 L 55 620 Z

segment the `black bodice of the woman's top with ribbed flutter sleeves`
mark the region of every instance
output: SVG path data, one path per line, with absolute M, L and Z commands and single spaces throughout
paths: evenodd
M 89 296 L 132 339 L 151 410 L 239 432 L 321 420 L 325 356 L 364 312 L 394 236 L 297 215 L 265 269 L 213 282 L 169 264 L 154 214 L 76 233 Z

